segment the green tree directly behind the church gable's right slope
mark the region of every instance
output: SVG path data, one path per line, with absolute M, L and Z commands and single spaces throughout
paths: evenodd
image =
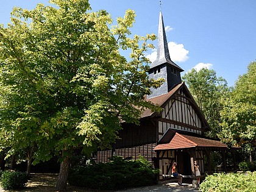
M 184 74 L 182 79 L 188 85 L 190 93 L 208 121 L 211 128 L 208 136 L 216 138 L 217 134 L 221 132 L 219 126 L 221 118 L 219 112 L 222 109 L 221 99 L 230 92 L 226 80 L 217 77 L 216 71 L 213 69 L 207 68 L 202 68 L 199 71 L 191 69 Z

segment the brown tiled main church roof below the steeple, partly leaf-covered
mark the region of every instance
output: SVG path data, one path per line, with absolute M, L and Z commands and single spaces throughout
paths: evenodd
M 172 88 L 171 91 L 169 91 L 166 94 L 162 94 L 160 96 L 157 96 L 155 98 L 151 98 L 151 99 L 146 99 L 146 101 L 151 101 L 152 103 L 154 103 L 155 105 L 159 105 L 162 106 L 163 104 L 165 104 L 165 102 L 172 96 L 172 94 L 176 93 L 177 90 L 179 90 L 179 88 L 184 84 L 184 82 L 182 82 L 181 84 L 176 85 L 176 87 Z M 141 118 L 144 118 L 146 116 L 151 116 L 153 114 L 153 112 L 150 109 L 146 109 L 142 114 L 141 114 Z

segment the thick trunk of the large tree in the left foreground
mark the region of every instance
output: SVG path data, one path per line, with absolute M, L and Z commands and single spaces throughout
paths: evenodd
M 69 157 L 65 157 L 63 162 L 60 164 L 60 173 L 56 184 L 56 189 L 60 192 L 66 190 L 66 184 L 68 182 L 68 171 Z

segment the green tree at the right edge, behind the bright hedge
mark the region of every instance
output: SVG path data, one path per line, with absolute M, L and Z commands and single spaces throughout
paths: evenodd
M 242 146 L 252 160 L 256 146 L 256 62 L 250 63 L 247 73 L 236 80 L 223 103 L 219 137 L 230 145 Z

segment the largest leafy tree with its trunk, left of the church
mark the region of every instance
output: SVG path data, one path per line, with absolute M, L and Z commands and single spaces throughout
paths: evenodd
M 112 26 L 104 10 L 88 12 L 86 0 L 52 0 L 34 10 L 14 8 L 12 24 L 0 27 L 1 133 L 10 153 L 26 150 L 34 163 L 60 157 L 57 190 L 64 190 L 77 148 L 107 148 L 121 121 L 138 123 L 144 95 L 162 80 L 149 79 L 155 35 L 130 38 L 135 13 Z M 140 46 L 139 46 L 140 44 Z M 127 61 L 119 49 L 130 50 Z

